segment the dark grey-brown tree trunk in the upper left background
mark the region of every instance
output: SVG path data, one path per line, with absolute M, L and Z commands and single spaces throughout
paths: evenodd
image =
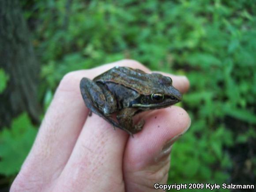
M 19 0 L 0 0 L 0 68 L 9 76 L 0 94 L 0 127 L 23 111 L 38 121 L 39 65 L 29 37 Z

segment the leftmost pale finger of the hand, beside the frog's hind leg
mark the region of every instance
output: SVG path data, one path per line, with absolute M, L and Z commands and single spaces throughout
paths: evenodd
M 84 70 L 83 75 L 86 73 Z M 62 79 L 12 186 L 43 191 L 62 172 L 87 116 L 79 80 L 76 79 L 78 76 L 79 72 L 72 72 Z

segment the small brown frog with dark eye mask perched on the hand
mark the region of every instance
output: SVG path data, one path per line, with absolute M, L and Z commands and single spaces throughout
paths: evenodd
M 113 67 L 94 79 L 80 81 L 83 101 L 93 112 L 130 136 L 140 132 L 145 120 L 133 122 L 133 116 L 180 102 L 182 94 L 173 80 L 160 73 L 146 73 L 130 67 Z

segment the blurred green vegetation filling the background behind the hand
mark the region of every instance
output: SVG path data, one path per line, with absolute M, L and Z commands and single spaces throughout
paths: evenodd
M 22 0 L 16 5 L 9 11 L 21 8 L 23 29 L 30 31 L 21 38 L 30 37 L 26 46 L 32 45 L 22 74 L 35 79 L 28 79 L 34 98 L 24 98 L 29 104 L 36 99 L 32 108 L 2 118 L 16 102 L 10 87 L 17 76 L 10 70 L 18 69 L 1 63 L 0 191 L 7 191 L 19 172 L 60 79 L 123 58 L 190 80 L 181 105 L 192 125 L 173 146 L 169 184 L 256 184 L 254 0 Z M 34 69 L 26 70 L 32 56 L 27 67 Z

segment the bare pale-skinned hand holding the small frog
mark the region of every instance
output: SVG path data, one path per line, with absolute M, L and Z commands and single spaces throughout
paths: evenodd
M 137 61 L 121 60 L 65 75 L 11 192 L 153 192 L 154 183 L 166 183 L 171 146 L 190 126 L 188 113 L 177 106 L 140 113 L 137 121 L 146 123 L 134 138 L 98 115 L 88 117 L 80 79 L 116 65 L 149 72 Z M 169 76 L 182 93 L 188 90 L 187 78 Z

